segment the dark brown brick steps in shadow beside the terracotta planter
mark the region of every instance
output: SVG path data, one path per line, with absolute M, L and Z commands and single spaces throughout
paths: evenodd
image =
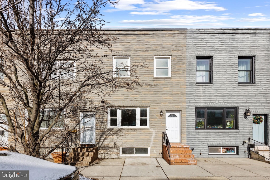
M 97 147 L 77 147 L 72 148 L 72 151 L 69 152 L 69 157 L 66 157 L 68 165 L 90 165 L 97 159 Z

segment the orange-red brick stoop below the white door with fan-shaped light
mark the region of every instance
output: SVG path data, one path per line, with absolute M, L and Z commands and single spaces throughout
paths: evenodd
M 163 158 L 169 164 L 170 158 L 167 152 L 166 145 L 163 145 Z M 165 150 L 165 151 L 164 151 Z M 181 143 L 171 143 L 171 165 L 197 165 L 197 160 L 191 154 L 192 150 L 188 145 Z

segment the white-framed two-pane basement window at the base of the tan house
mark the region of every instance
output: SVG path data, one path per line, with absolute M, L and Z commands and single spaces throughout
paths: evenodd
M 149 147 L 120 147 L 120 156 L 150 156 Z

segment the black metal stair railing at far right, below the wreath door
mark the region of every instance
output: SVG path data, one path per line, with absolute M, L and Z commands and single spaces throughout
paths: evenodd
M 270 146 L 259 141 L 248 138 L 248 156 L 250 158 L 251 152 L 254 152 L 265 159 L 270 160 Z

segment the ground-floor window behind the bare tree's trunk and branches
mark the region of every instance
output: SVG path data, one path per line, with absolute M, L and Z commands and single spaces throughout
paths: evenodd
M 48 128 L 49 125 L 52 123 L 52 121 L 55 120 L 57 111 L 52 109 L 45 109 L 44 113 L 40 111 L 40 120 L 42 120 L 42 123 L 40 125 L 40 128 Z M 58 122 L 53 125 L 54 128 L 63 128 L 64 127 L 64 112 L 61 113 L 60 118 Z

